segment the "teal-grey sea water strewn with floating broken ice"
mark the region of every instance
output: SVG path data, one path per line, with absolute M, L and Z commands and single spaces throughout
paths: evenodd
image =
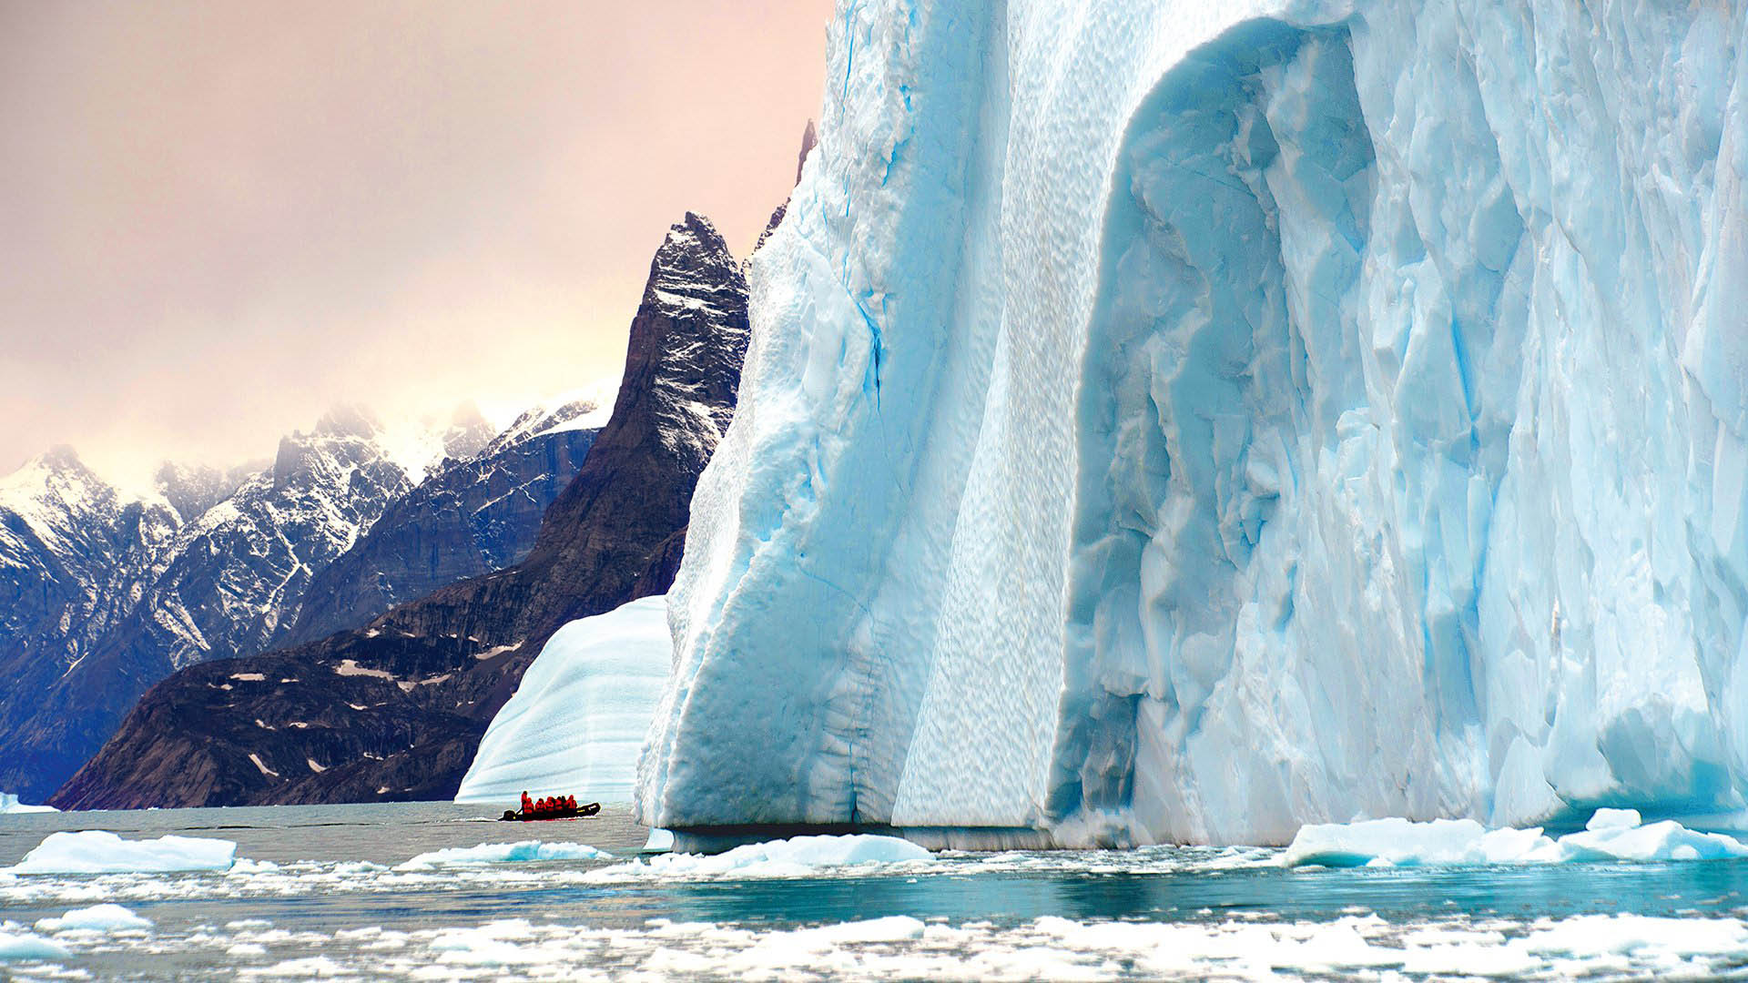
M 56 831 L 238 845 L 225 871 L 0 873 L 0 939 L 56 950 L 0 959 L 0 978 L 1748 976 L 1745 861 L 1294 869 L 1280 850 L 1155 847 L 711 866 L 640 855 L 647 831 L 624 810 L 491 815 L 409 803 L 0 817 L 0 866 Z M 612 857 L 409 864 L 533 855 L 467 852 L 526 840 Z M 65 920 L 100 904 L 133 918 Z

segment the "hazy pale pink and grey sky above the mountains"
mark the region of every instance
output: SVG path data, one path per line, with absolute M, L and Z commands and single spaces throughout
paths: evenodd
M 0 472 L 271 457 L 351 399 L 617 380 L 685 210 L 745 254 L 830 0 L 0 0 Z

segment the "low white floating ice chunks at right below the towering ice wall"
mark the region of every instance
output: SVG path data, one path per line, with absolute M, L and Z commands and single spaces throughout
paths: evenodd
M 1472 819 L 1369 819 L 1304 826 L 1288 868 L 1412 868 L 1433 864 L 1559 864 L 1571 861 L 1727 861 L 1748 845 L 1675 820 L 1643 822 L 1636 810 L 1601 808 L 1582 833 L 1549 838 L 1540 827 L 1486 829 Z

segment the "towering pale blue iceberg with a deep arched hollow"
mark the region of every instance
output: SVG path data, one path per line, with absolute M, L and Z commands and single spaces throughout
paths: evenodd
M 647 822 L 1748 789 L 1748 7 L 841 0 Z

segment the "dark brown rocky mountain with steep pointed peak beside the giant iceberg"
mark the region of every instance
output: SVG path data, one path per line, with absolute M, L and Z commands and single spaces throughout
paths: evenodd
M 399 603 L 362 630 L 178 672 L 51 801 L 453 796 L 486 724 L 554 631 L 668 588 L 745 353 L 741 268 L 715 227 L 689 213 L 650 262 L 612 415 L 526 558 Z M 558 436 L 575 423 L 524 430 Z

